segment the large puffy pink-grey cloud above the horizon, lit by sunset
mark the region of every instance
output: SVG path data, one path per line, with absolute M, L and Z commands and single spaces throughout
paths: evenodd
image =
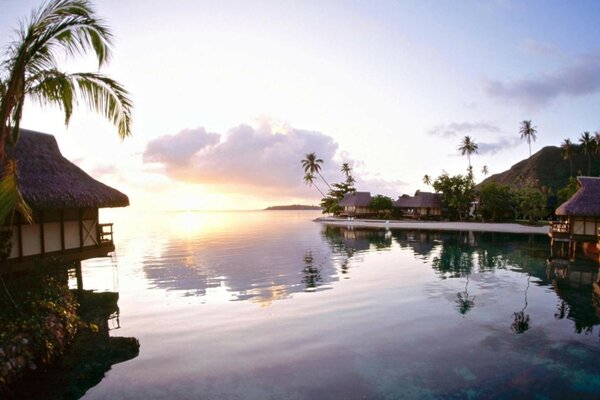
M 300 160 L 316 152 L 323 159 L 326 179 L 341 180 L 334 161 L 338 144 L 332 137 L 263 122 L 258 128 L 240 125 L 226 134 L 205 129 L 183 130 L 150 141 L 142 155 L 145 163 L 160 163 L 173 180 L 222 185 L 230 189 L 260 188 L 261 194 L 306 195 Z M 246 190 L 247 191 L 247 190 Z

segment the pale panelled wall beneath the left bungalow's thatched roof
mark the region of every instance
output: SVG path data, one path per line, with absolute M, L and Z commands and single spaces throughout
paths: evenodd
M 33 223 L 17 218 L 9 259 L 97 246 L 98 209 L 36 210 Z

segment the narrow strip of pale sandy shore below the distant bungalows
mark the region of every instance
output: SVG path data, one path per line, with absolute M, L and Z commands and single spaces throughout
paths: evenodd
M 430 229 L 436 231 L 477 231 L 533 233 L 547 235 L 548 226 L 526 226 L 520 224 L 486 222 L 437 222 L 437 221 L 378 221 L 369 219 L 347 220 L 342 218 L 321 217 L 315 220 L 326 225 L 353 226 L 363 228 Z

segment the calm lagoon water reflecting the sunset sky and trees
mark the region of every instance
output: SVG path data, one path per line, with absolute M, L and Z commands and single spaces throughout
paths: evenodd
M 547 237 L 327 228 L 315 212 L 121 210 L 84 263 L 139 339 L 86 399 L 600 397 L 597 265 Z

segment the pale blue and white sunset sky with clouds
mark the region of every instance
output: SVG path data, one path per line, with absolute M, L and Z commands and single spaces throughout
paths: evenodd
M 0 0 L 0 46 L 41 1 Z M 476 180 L 532 151 L 600 130 L 597 1 L 97 0 L 115 36 L 100 72 L 121 82 L 133 135 L 81 104 L 28 102 L 22 127 L 139 209 L 259 209 L 318 204 L 300 160 L 326 180 L 343 162 L 358 190 L 396 198 L 428 174 Z M 2 54 L 2 53 L 0 53 Z M 68 71 L 97 71 L 92 58 Z M 321 190 L 325 185 L 317 181 Z

